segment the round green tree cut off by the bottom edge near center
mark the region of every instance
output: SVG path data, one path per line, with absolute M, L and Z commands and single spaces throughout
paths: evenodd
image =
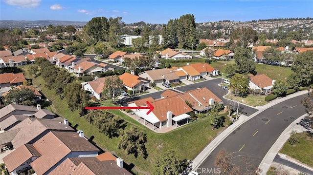
M 175 150 L 160 153 L 154 160 L 153 175 L 179 175 L 184 170 L 184 161 Z

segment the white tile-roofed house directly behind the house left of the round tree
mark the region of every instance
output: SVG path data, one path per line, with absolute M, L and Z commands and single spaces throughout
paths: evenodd
M 89 61 L 83 61 L 79 64 L 75 64 L 73 67 L 72 73 L 74 73 L 76 76 L 83 76 L 83 75 L 94 75 L 104 72 L 104 68 L 100 66 L 99 64 L 95 64 L 93 62 Z

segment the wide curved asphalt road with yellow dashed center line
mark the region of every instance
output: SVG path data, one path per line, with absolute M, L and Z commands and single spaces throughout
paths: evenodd
M 257 168 L 286 127 L 305 114 L 305 108 L 300 103 L 305 96 L 283 101 L 246 121 L 213 150 L 200 168 L 214 168 L 215 157 L 222 149 L 233 154 L 235 165 L 244 167 L 242 157 L 248 156 L 249 162 Z

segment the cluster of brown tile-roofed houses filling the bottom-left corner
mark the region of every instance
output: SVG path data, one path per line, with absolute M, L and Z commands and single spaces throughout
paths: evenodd
M 9 104 L 0 109 L 0 150 L 14 151 L 3 158 L 11 175 L 33 169 L 37 175 L 131 175 L 123 159 L 102 153 L 75 132 L 67 118 L 37 107 Z

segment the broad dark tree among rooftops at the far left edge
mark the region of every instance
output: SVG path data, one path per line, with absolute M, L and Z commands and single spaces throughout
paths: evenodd
M 29 88 L 22 87 L 21 89 L 14 88 L 8 91 L 9 93 L 4 97 L 4 104 L 21 104 L 26 100 L 34 100 L 36 98 L 35 91 Z

